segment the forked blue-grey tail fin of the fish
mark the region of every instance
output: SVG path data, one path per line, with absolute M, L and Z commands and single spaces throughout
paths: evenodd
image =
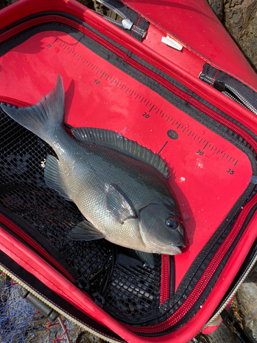
M 1 108 L 12 119 L 17 121 L 38 137 L 47 141 L 49 130 L 62 126 L 64 117 L 64 88 L 62 78 L 58 74 L 56 86 L 34 105 L 14 108 L 1 105 Z

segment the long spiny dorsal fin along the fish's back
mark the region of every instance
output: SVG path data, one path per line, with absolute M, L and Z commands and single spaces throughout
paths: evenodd
M 98 128 L 71 128 L 71 131 L 79 142 L 97 143 L 125 152 L 156 168 L 165 178 L 169 177 L 168 167 L 160 156 L 117 132 Z

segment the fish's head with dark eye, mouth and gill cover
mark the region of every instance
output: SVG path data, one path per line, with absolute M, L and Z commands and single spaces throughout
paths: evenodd
M 154 203 L 140 209 L 139 230 L 143 243 L 153 253 L 178 255 L 186 246 L 184 226 L 173 206 Z

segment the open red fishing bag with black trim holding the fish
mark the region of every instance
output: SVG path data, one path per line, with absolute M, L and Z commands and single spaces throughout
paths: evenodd
M 0 11 L 0 102 L 36 104 L 61 75 L 64 124 L 169 165 L 186 247 L 153 263 L 105 239 L 47 187 L 51 147 L 0 111 L 0 268 L 109 342 L 188 342 L 256 261 L 257 78 L 206 1 L 20 0 Z

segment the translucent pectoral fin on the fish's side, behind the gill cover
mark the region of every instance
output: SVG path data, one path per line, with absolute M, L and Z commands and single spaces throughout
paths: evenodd
M 105 185 L 106 204 L 111 215 L 121 224 L 127 219 L 137 218 L 136 210 L 130 199 L 117 185 Z

